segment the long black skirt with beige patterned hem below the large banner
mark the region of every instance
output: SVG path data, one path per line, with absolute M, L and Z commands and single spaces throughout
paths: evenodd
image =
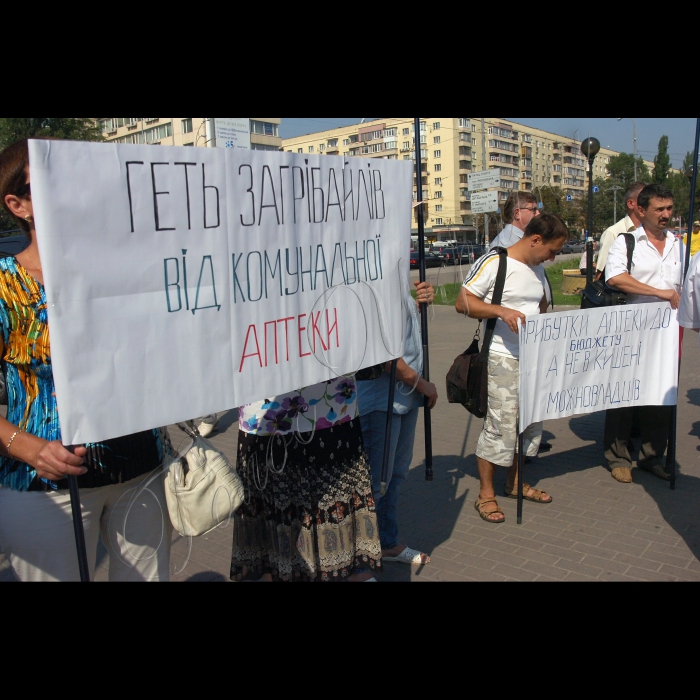
M 360 421 L 315 433 L 238 436 L 245 503 L 233 518 L 231 579 L 345 581 L 381 567 Z

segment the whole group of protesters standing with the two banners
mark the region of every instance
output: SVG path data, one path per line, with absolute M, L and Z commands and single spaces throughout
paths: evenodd
M 163 518 L 163 483 L 149 478 L 169 449 L 166 433 L 149 430 L 74 448 L 61 442 L 26 140 L 0 153 L 0 203 L 29 241 L 16 256 L 0 258 L 0 357 L 8 392 L 7 418 L 0 418 L 0 549 L 22 581 L 78 580 L 66 479 L 75 476 L 91 575 L 101 537 L 110 552 L 110 580 L 168 580 L 171 526 Z M 697 258 L 682 290 L 684 245 L 666 230 L 672 193 L 634 183 L 625 203 L 624 219 L 601 239 L 599 276 L 626 292 L 627 303 L 663 300 L 673 309 L 680 306 L 681 325 L 700 329 Z M 518 324 L 546 313 L 552 294 L 543 263 L 569 238 L 564 222 L 541 212 L 530 193 L 512 194 L 504 213 L 506 227 L 473 264 L 456 302 L 459 313 L 496 319 L 474 504 L 491 524 L 505 520 L 494 489 L 497 467 L 508 469 L 503 497 L 517 494 Z M 621 233 L 635 240 L 629 266 Z M 503 291 L 495 304 L 503 265 Z M 433 300 L 432 286 L 416 283 L 416 303 L 403 306 L 405 354 L 395 368 L 398 390 L 391 411 L 392 363 L 378 368 L 372 379 L 336 377 L 239 407 L 236 464 L 247 497 L 232 518 L 232 580 L 371 582 L 383 561 L 430 563 L 426 553 L 402 541 L 398 508 L 419 410 L 438 401 L 436 386 L 422 377 L 419 323 L 419 305 Z M 607 412 L 605 458 L 613 478 L 632 481 L 635 420 L 643 436 L 639 468 L 667 479 L 670 415 L 664 406 Z M 200 432 L 212 432 L 217 421 L 216 415 L 201 418 Z M 391 442 L 382 483 L 388 423 Z M 525 431 L 529 457 L 538 453 L 541 436 L 541 423 Z M 148 488 L 139 488 L 145 482 Z M 553 500 L 526 483 L 523 494 L 543 506 Z

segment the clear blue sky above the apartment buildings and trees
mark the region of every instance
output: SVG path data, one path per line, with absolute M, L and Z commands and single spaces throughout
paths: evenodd
M 367 121 L 375 117 L 366 117 Z M 378 117 L 377 117 L 378 118 Z M 337 126 L 358 124 L 362 117 L 334 118 L 314 117 L 282 118 L 280 135 L 282 138 L 301 136 L 314 131 L 324 131 Z M 579 141 L 587 136 L 595 136 L 602 146 L 616 151 L 632 153 L 632 122 L 623 119 L 618 122 L 615 118 L 541 118 L 541 117 L 503 117 L 510 121 L 527 126 L 534 126 L 547 131 L 553 131 L 562 136 L 573 138 L 574 132 Z M 668 136 L 668 151 L 673 167 L 679 168 L 687 151 L 693 150 L 695 136 L 695 119 L 693 118 L 646 118 L 634 119 L 637 125 L 637 152 L 646 160 L 653 160 L 659 146 L 659 139 Z

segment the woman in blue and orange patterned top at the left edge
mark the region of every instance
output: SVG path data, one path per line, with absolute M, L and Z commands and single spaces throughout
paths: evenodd
M 162 480 L 139 489 L 161 462 L 157 431 L 72 451 L 61 443 L 26 140 L 0 153 L 0 203 L 29 240 L 18 255 L 0 258 L 0 358 L 8 394 L 7 418 L 0 417 L 0 549 L 20 580 L 79 580 L 66 480 L 75 475 L 91 573 L 102 537 L 110 580 L 167 580 L 170 523 Z

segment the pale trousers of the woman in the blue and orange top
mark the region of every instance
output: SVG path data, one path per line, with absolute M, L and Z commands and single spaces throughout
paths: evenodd
M 163 477 L 141 488 L 150 476 L 80 489 L 91 580 L 100 537 L 109 552 L 110 581 L 168 580 L 172 530 Z M 0 549 L 20 581 L 79 581 L 68 491 L 0 487 Z

